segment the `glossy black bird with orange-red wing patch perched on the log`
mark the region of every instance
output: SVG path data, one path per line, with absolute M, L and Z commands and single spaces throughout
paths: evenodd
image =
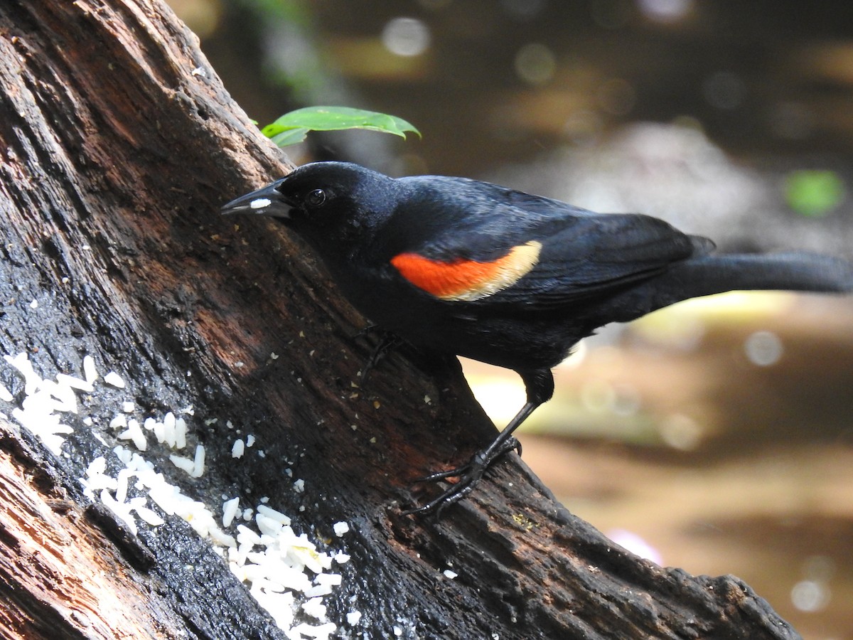
M 527 402 L 432 512 L 471 492 L 551 398 L 551 368 L 606 323 L 734 289 L 853 291 L 853 265 L 809 253 L 712 255 L 637 213 L 599 214 L 461 177 L 392 178 L 316 162 L 223 207 L 280 218 L 370 321 L 415 346 L 514 369 Z

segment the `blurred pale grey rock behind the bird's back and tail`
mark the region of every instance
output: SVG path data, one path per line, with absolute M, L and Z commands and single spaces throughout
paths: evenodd
M 808 250 L 853 259 L 853 206 L 815 219 L 786 206 L 787 168 L 740 165 L 696 128 L 640 123 L 485 179 L 599 212 L 642 212 L 723 251 Z

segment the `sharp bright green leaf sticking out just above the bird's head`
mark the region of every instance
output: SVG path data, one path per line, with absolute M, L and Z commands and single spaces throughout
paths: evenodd
M 419 137 L 421 132 L 413 125 L 397 116 L 364 109 L 350 107 L 306 107 L 285 113 L 271 125 L 266 125 L 261 132 L 272 138 L 279 147 L 295 144 L 305 139 L 308 131 L 340 131 L 343 129 L 366 129 L 392 133 L 395 136 L 406 137 L 411 131 Z M 303 131 L 299 136 L 277 138 L 286 131 Z M 284 142 L 279 142 L 283 139 Z M 291 142 L 292 141 L 292 142 Z

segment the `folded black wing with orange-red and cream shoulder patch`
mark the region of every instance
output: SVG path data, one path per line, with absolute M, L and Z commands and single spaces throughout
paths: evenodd
M 557 308 L 713 247 L 657 218 L 595 214 L 508 189 L 484 193 L 478 184 L 466 197 L 456 189 L 452 200 L 409 207 L 421 224 L 408 228 L 422 235 L 391 259 L 403 278 L 440 300 Z M 431 212 L 432 224 L 423 224 Z

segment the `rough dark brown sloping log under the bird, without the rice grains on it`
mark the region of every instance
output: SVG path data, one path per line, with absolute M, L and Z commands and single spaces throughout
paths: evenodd
M 514 456 L 440 521 L 401 516 L 429 491 L 409 492 L 415 477 L 494 428 L 453 362 L 392 354 L 358 388 L 364 321 L 310 253 L 272 221 L 219 217 L 288 167 L 194 35 L 158 0 L 6 0 L 0 48 L 0 349 L 45 377 L 90 354 L 127 382 L 85 400 L 92 424 L 69 416 L 56 456 L 11 419 L 24 390 L 0 374 L 15 396 L 0 401 L 0 635 L 284 637 L 184 521 L 133 535 L 84 497 L 132 399 L 218 418 L 198 422 L 209 503 L 268 496 L 319 540 L 350 524 L 327 598 L 341 636 L 798 637 L 740 580 L 612 544 Z M 232 460 L 226 421 L 263 463 Z

